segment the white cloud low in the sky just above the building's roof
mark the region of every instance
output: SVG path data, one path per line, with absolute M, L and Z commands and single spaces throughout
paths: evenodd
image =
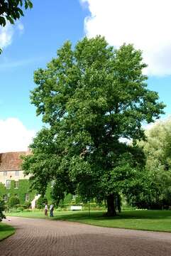
M 0 119 L 0 152 L 26 151 L 35 131 L 27 129 L 17 118 Z

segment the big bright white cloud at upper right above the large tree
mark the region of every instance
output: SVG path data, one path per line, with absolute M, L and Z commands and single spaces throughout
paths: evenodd
M 171 74 L 171 1 L 81 1 L 91 13 L 84 21 L 87 36 L 103 35 L 116 48 L 133 43 L 143 50 L 149 75 Z

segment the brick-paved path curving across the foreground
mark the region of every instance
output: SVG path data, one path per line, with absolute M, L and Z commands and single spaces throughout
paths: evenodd
M 16 234 L 0 242 L 1 256 L 171 256 L 171 233 L 16 217 L 11 225 Z

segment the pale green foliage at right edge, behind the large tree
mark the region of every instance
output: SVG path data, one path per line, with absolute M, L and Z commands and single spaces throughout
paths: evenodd
M 143 208 L 171 206 L 171 119 L 157 122 L 146 132 L 147 140 L 140 142 L 147 158 L 141 193 L 131 202 Z

